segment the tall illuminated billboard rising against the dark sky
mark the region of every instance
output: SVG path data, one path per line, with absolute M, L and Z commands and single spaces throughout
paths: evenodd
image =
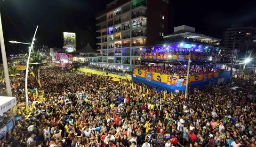
M 63 32 L 65 52 L 76 51 L 76 33 Z

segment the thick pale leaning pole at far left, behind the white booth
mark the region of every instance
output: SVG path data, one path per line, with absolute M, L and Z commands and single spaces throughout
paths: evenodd
M 7 96 L 12 96 L 9 71 L 8 71 L 8 62 L 6 59 L 6 52 L 5 52 L 5 45 L 4 45 L 4 35 L 3 35 L 1 15 L 0 15 L 0 44 L 1 44 L 1 53 L 2 53 L 3 66 L 4 66 L 4 77 L 5 77 L 5 85 L 7 89 Z

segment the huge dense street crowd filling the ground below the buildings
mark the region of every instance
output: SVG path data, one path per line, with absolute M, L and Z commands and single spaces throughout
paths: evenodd
M 29 88 L 38 88 L 33 79 Z M 2 147 L 256 147 L 255 76 L 195 88 L 187 98 L 111 79 L 43 68 L 39 95 L 44 90 L 45 100 L 29 103 L 29 112 L 24 76 L 11 77 L 18 114 L 28 118 L 16 122 Z M 232 84 L 240 88 L 229 89 Z M 39 101 L 32 93 L 29 98 Z

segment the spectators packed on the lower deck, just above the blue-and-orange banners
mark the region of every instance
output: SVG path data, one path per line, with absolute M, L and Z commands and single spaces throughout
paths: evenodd
M 168 75 L 179 75 L 185 76 L 187 74 L 186 66 L 173 66 L 166 65 L 164 66 L 135 66 L 135 69 L 146 70 L 150 72 L 160 73 L 160 74 L 168 74 Z M 215 73 L 218 71 L 224 71 L 226 69 L 218 69 L 218 68 L 210 68 L 208 66 L 191 66 L 190 67 L 190 75 L 198 75 L 198 74 L 208 74 Z

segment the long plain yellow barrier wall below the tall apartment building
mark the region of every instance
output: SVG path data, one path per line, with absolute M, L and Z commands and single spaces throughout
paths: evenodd
M 80 67 L 78 70 L 81 71 L 81 72 L 85 72 L 85 73 L 98 74 L 98 75 L 107 75 L 107 73 L 105 73 L 105 72 L 92 70 L 92 69 L 88 69 L 88 68 L 81 68 Z M 125 76 L 121 76 L 121 75 L 117 75 L 117 74 L 108 73 L 107 76 L 110 76 L 110 77 L 113 77 L 113 78 L 127 79 L 129 81 L 132 80 L 132 75 L 130 75 L 130 74 L 125 74 Z

